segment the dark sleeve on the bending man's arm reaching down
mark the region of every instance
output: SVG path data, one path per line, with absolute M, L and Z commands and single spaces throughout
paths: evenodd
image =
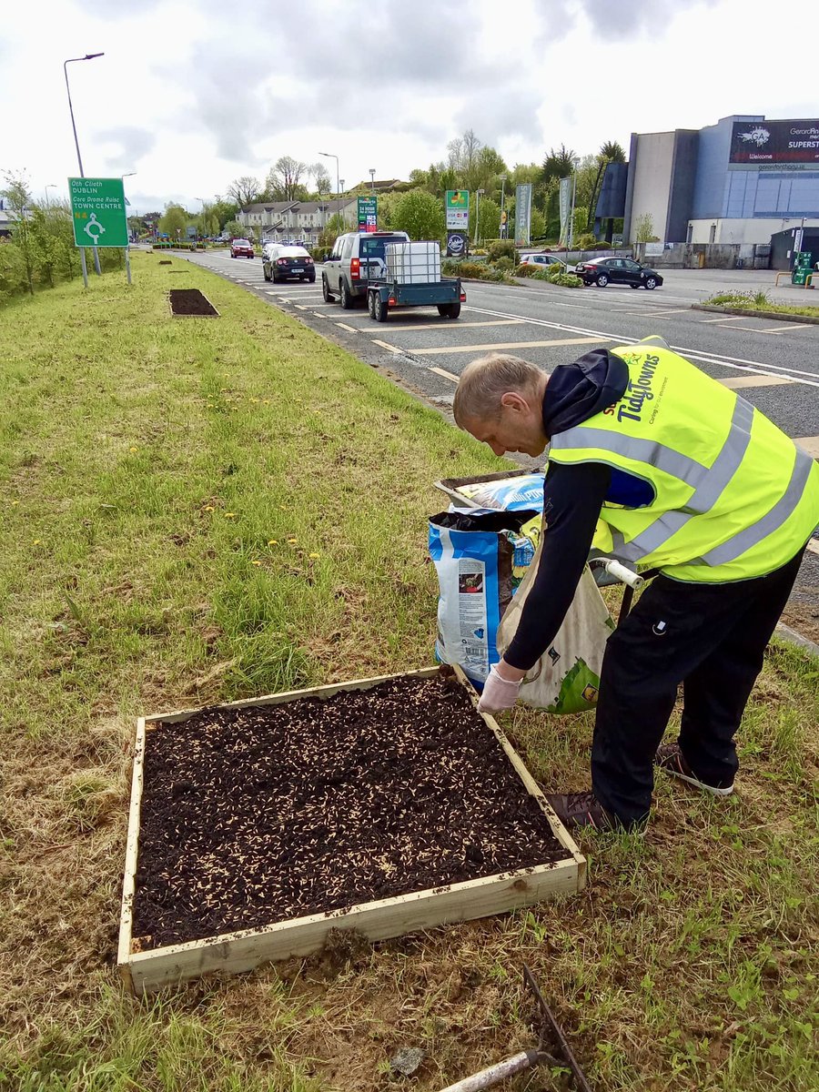
M 541 561 L 518 632 L 503 654 L 512 667 L 529 670 L 555 640 L 589 560 L 610 480 L 610 467 L 603 463 L 549 464 Z

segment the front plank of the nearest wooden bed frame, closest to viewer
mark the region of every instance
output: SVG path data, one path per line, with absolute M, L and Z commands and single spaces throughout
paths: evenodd
M 239 929 L 153 951 L 134 952 L 129 970 L 134 992 L 159 988 L 212 971 L 248 971 L 260 963 L 307 956 L 324 943 L 332 928 L 355 928 L 369 940 L 418 933 L 452 922 L 509 913 L 548 895 L 578 891 L 573 859 L 515 869 L 477 880 L 414 891 L 377 902 Z

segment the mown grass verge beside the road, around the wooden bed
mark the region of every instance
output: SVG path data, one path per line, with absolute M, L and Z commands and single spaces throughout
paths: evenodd
M 134 256 L 0 327 L 0 1089 L 438 1089 L 531 1045 L 526 960 L 601 1090 L 819 1087 L 818 667 L 768 658 L 736 797 L 667 782 L 586 892 L 158 998 L 114 969 L 141 712 L 431 660 L 439 476 L 500 465 L 241 289 Z M 222 313 L 171 320 L 168 287 Z M 508 725 L 554 788 L 591 722 Z M 544 1075 L 519 1090 L 549 1088 Z

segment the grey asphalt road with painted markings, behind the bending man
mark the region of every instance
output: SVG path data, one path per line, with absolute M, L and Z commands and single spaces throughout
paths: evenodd
M 384 369 L 444 414 L 458 377 L 470 360 L 490 351 L 523 356 L 546 371 L 595 347 L 613 348 L 661 334 L 676 352 L 758 406 L 819 459 L 819 325 L 692 310 L 719 290 L 767 290 L 772 300 L 814 301 L 812 293 L 782 285 L 771 271 L 664 271 L 654 292 L 628 286 L 568 289 L 536 282 L 465 284 L 458 321 L 435 308 L 369 318 L 363 302 L 344 311 L 325 304 L 321 266 L 316 284 L 269 284 L 261 259 L 232 259 L 226 251 L 181 257 L 244 285 L 262 299 Z M 819 302 L 819 300 L 818 300 Z M 525 459 L 520 460 L 526 465 Z M 819 541 L 806 555 L 794 609 L 786 619 L 819 641 Z

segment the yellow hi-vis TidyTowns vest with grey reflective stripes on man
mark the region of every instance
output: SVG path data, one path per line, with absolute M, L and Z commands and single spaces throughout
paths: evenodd
M 697 583 L 762 577 L 790 561 L 819 523 L 819 465 L 670 349 L 613 352 L 629 369 L 622 397 L 549 447 L 553 462 L 606 463 L 654 490 L 643 508 L 606 502 L 595 546 Z

